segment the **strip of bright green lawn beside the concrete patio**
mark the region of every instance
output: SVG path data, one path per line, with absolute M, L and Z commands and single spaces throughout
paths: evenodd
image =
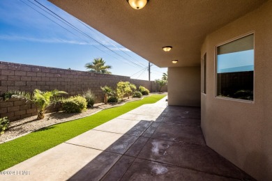
M 0 171 L 38 155 L 40 152 L 72 139 L 143 104 L 155 103 L 163 97 L 165 95 L 151 95 L 143 100 L 128 102 L 121 107 L 105 109 L 86 118 L 40 129 L 13 141 L 2 143 L 0 144 Z

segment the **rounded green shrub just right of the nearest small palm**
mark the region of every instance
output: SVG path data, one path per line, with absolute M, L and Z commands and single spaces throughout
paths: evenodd
M 81 95 L 75 95 L 73 97 L 69 97 L 62 102 L 62 109 L 67 113 L 81 113 L 86 110 L 87 102 L 84 97 Z

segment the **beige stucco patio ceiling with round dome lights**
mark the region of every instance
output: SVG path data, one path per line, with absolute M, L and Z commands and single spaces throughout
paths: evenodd
M 150 0 L 141 10 L 126 0 L 49 1 L 159 67 L 184 67 L 200 65 L 207 34 L 266 0 Z

